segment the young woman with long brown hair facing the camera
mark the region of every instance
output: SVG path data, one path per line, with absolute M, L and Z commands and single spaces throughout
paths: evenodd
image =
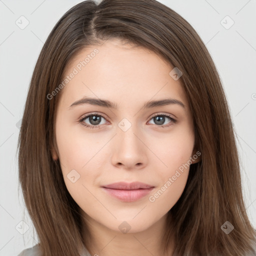
M 39 238 L 23 255 L 256 255 L 218 73 L 155 0 L 60 18 L 31 78 L 19 181 Z

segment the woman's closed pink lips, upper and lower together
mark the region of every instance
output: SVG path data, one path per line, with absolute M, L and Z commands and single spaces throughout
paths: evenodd
M 154 186 L 142 182 L 117 182 L 102 186 L 111 196 L 125 202 L 136 201 L 147 195 Z

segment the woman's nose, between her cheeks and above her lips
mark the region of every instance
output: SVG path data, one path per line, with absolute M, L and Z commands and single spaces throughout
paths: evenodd
M 135 125 L 124 131 L 117 127 L 117 134 L 112 141 L 111 163 L 125 169 L 140 169 L 148 162 L 146 138 Z

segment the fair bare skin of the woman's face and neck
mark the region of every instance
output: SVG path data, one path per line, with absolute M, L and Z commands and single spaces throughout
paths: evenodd
M 168 62 L 148 49 L 119 40 L 82 50 L 66 67 L 65 75 L 95 48 L 99 52 L 61 90 L 55 121 L 58 154 L 53 150 L 53 158 L 59 158 L 66 187 L 82 209 L 92 235 L 91 255 L 164 255 L 161 236 L 167 212 L 183 192 L 189 168 L 155 201 L 148 198 L 196 152 L 186 95 L 180 79 L 169 75 L 173 67 Z M 84 96 L 107 99 L 118 107 L 69 107 Z M 166 96 L 181 101 L 184 107 L 142 108 L 145 102 Z M 103 115 L 99 128 L 79 122 L 94 112 Z M 169 114 L 177 121 L 167 126 L 172 121 L 165 117 L 165 127 L 160 127 L 152 118 L 157 113 Z M 131 124 L 126 131 L 118 126 L 123 118 Z M 89 118 L 83 122 L 95 123 Z M 72 169 L 80 175 L 75 182 L 67 177 Z M 101 188 L 119 181 L 141 181 L 154 189 L 137 201 L 123 202 Z M 118 228 L 123 221 L 130 226 L 127 233 Z

